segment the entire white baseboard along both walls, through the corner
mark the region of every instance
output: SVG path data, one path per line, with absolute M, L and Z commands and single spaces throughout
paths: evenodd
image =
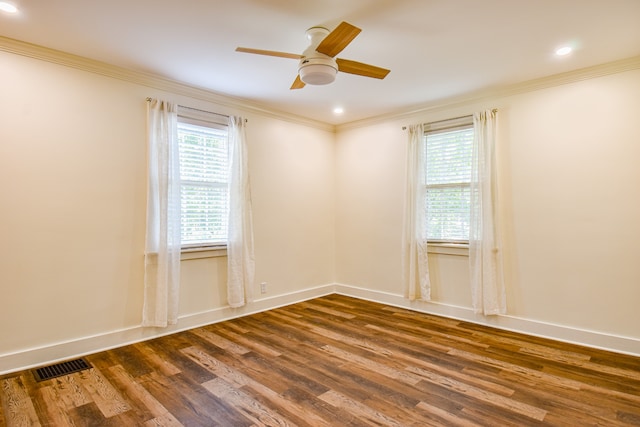
M 82 357 L 99 351 L 267 311 L 332 293 L 640 357 L 640 340 L 636 338 L 570 328 L 514 316 L 482 316 L 475 314 L 473 310 L 468 307 L 458 307 L 436 302 L 409 301 L 400 294 L 373 291 L 344 284 L 328 284 L 258 299 L 248 306 L 241 308 L 226 306 L 201 313 L 188 314 L 181 316 L 176 325 L 167 328 L 143 328 L 141 326 L 135 326 L 38 348 L 2 354 L 0 355 L 0 375 Z

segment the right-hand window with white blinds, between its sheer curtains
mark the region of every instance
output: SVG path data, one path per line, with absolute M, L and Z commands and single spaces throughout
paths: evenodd
M 425 143 L 427 241 L 468 242 L 473 150 L 471 118 L 427 125 Z

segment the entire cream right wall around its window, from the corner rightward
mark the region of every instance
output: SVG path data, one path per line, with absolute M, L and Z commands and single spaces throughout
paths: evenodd
M 500 116 L 508 315 L 631 338 L 640 353 L 638 70 L 341 129 L 337 282 L 375 295 L 403 293 L 407 135 L 401 127 L 494 107 Z M 425 310 L 469 311 L 467 263 L 466 257 L 431 257 L 435 304 Z

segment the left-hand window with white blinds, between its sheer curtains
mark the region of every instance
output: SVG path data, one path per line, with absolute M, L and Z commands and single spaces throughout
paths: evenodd
M 183 248 L 227 242 L 227 136 L 226 125 L 178 116 Z

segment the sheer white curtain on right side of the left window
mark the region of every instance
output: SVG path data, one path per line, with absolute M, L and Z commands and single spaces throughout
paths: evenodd
M 241 307 L 253 299 L 255 262 L 245 126 L 242 117 L 229 117 L 227 298 L 231 307 Z

